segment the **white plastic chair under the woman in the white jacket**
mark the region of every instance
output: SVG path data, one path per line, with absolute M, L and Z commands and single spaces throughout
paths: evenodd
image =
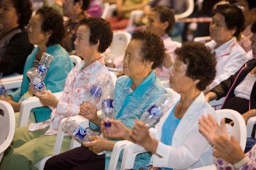
M 218 110 L 216 111 L 216 115 L 218 118 L 218 122 L 220 122 L 222 118 L 229 118 L 234 121 L 234 126 L 230 127 L 230 135 L 233 135 L 237 139 L 237 141 L 239 141 L 241 148 L 244 150 L 246 145 L 246 125 L 243 117 L 234 110 Z M 118 145 L 118 143 L 116 144 Z M 136 155 L 145 152 L 145 149 L 129 141 L 125 144 L 123 143 L 122 145 L 126 146 L 124 147 L 124 155 L 122 159 L 121 169 L 131 169 L 134 166 L 134 160 Z M 118 153 L 120 153 L 120 151 L 118 151 Z M 118 156 L 116 155 L 116 157 Z M 115 167 L 116 163 L 117 162 L 115 162 L 115 164 L 112 166 Z

